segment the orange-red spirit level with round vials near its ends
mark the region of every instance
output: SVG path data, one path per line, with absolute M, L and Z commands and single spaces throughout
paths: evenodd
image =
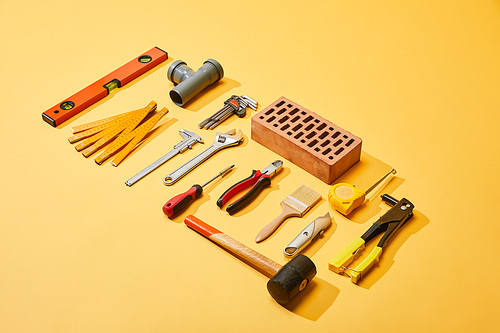
M 146 53 L 141 54 L 134 60 L 131 60 L 68 99 L 48 109 L 42 113 L 42 118 L 50 125 L 56 127 L 103 99 L 112 90 L 123 87 L 167 59 L 167 52 L 158 47 L 153 47 Z

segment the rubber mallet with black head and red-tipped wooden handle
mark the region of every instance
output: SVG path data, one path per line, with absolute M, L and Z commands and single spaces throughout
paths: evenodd
M 305 255 L 299 254 L 287 264 L 281 266 L 193 215 L 186 216 L 184 223 L 235 257 L 270 277 L 271 279 L 267 282 L 267 290 L 272 298 L 280 304 L 288 303 L 294 296 L 304 290 L 316 275 L 316 266 Z

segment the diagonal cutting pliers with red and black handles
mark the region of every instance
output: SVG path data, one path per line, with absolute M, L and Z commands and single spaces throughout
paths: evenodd
M 250 202 L 252 202 L 252 200 L 255 199 L 263 189 L 271 186 L 271 177 L 274 176 L 278 171 L 280 171 L 282 166 L 283 161 L 277 160 L 269 164 L 262 171 L 253 170 L 250 177 L 245 178 L 228 188 L 226 192 L 221 195 L 219 200 L 217 200 L 217 206 L 219 206 L 219 208 L 222 208 L 222 206 L 224 206 L 224 204 L 228 202 L 229 199 L 231 199 L 236 193 L 239 193 L 247 187 L 251 186 L 252 188 L 250 188 L 250 190 L 244 196 L 242 196 L 226 208 L 226 211 L 229 213 L 229 215 L 233 215 L 234 213 L 240 211 Z

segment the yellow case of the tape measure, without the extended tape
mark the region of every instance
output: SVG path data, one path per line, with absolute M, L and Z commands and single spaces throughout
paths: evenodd
M 328 192 L 328 201 L 333 209 L 344 215 L 349 215 L 365 201 L 366 193 L 351 184 L 338 183 Z

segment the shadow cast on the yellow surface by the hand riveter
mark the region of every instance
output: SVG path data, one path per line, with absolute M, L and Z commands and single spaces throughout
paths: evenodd
M 398 231 L 395 237 L 384 247 L 383 253 L 380 257 L 380 261 L 375 264 L 370 271 L 361 279 L 357 285 L 364 288 L 370 289 L 375 283 L 377 283 L 380 278 L 382 278 L 394 265 L 394 256 L 401 248 L 401 246 L 414 234 L 424 228 L 430 223 L 430 220 L 423 215 L 421 212 L 414 210 L 413 217 L 406 222 L 406 224 Z M 372 248 L 378 243 L 378 240 L 382 237 L 376 237 L 368 243 L 367 248 L 363 251 L 363 255 L 360 256 L 356 261 L 361 262 L 365 256 L 367 256 Z

